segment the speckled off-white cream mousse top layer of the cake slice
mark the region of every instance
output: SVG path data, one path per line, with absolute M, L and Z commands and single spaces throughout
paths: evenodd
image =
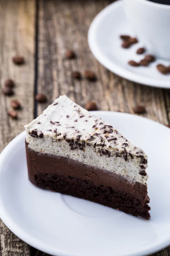
M 26 142 L 34 151 L 96 166 L 132 183 L 147 182 L 144 151 L 65 95 L 59 96 L 25 128 Z

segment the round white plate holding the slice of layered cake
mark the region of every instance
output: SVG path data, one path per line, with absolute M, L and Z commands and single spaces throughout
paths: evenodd
M 24 132 L 0 154 L 0 218 L 20 239 L 55 256 L 144 256 L 161 250 L 170 244 L 170 129 L 126 113 L 95 115 L 147 152 L 150 220 L 32 185 Z

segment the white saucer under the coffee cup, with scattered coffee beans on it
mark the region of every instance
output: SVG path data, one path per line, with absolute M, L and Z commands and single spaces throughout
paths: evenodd
M 103 66 L 119 76 L 139 84 L 170 88 L 170 74 L 162 75 L 156 70 L 156 64 L 170 65 L 170 61 L 168 63 L 158 59 L 149 67 L 131 67 L 127 64 L 129 60 L 139 61 L 143 58 L 143 55 L 136 54 L 136 49 L 143 46 L 142 42 L 130 49 L 123 49 L 120 35 L 133 35 L 125 17 L 122 0 L 107 6 L 91 23 L 88 32 L 91 52 Z

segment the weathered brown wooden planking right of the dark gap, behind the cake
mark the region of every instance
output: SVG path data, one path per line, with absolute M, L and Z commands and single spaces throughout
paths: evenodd
M 82 107 L 95 99 L 100 110 L 133 113 L 135 105 L 144 105 L 142 116 L 164 125 L 169 122 L 170 97 L 167 90 L 142 86 L 116 76 L 96 61 L 88 48 L 87 33 L 93 18 L 112 0 L 40 0 L 39 13 L 39 74 L 38 92 L 48 97 L 38 105 L 38 114 L 56 99 L 66 94 Z M 75 60 L 65 60 L 64 53 L 73 49 Z M 98 80 L 76 81 L 72 71 L 93 70 Z M 170 255 L 170 247 L 153 256 Z M 36 256 L 47 256 L 40 251 Z

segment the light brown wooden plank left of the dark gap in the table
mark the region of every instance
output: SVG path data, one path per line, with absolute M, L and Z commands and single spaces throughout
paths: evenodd
M 34 0 L 0 1 L 0 151 L 34 117 L 34 21 Z M 23 55 L 26 64 L 14 65 L 11 61 L 14 55 Z M 1 93 L 7 78 L 16 83 L 12 97 Z M 7 115 L 11 99 L 18 99 L 23 105 L 18 111 L 18 120 Z M 2 221 L 0 256 L 30 256 L 29 246 L 11 233 Z

